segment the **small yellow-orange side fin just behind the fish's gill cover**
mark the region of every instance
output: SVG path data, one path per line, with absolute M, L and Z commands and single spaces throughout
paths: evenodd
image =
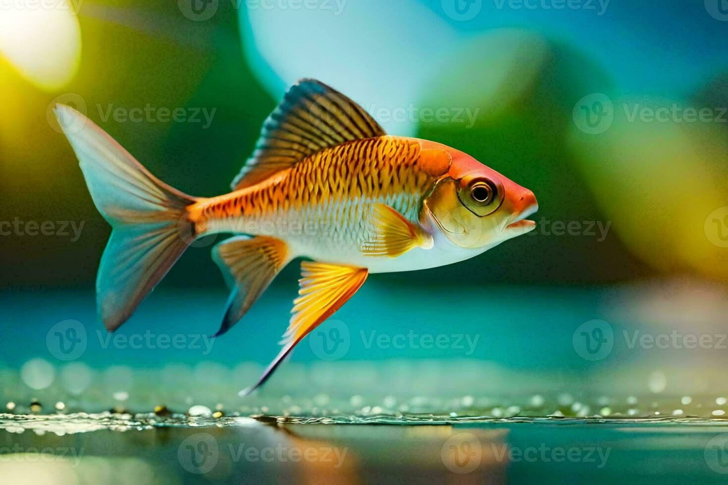
M 430 234 L 386 204 L 373 204 L 370 222 L 375 234 L 362 247 L 366 256 L 397 257 L 414 247 L 432 247 Z

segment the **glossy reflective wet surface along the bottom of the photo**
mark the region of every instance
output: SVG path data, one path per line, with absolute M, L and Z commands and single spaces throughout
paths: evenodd
M 721 420 L 375 419 L 6 414 L 0 482 L 683 484 L 728 473 Z

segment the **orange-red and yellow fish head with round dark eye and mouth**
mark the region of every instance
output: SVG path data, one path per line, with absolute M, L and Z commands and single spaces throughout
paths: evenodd
M 467 249 L 488 249 L 533 231 L 536 223 L 526 219 L 538 209 L 533 192 L 467 153 L 440 149 L 446 149 L 451 163 L 423 204 L 423 217 L 435 230 Z

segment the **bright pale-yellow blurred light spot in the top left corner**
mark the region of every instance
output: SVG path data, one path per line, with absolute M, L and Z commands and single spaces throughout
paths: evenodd
M 0 55 L 46 91 L 71 80 L 81 58 L 81 28 L 71 0 L 9 0 L 0 10 Z

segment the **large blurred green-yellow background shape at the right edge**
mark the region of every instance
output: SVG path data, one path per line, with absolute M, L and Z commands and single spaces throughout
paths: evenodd
M 654 268 L 728 278 L 724 128 L 679 100 L 609 103 L 599 113 L 609 123 L 591 133 L 575 115 L 570 144 L 617 236 Z

